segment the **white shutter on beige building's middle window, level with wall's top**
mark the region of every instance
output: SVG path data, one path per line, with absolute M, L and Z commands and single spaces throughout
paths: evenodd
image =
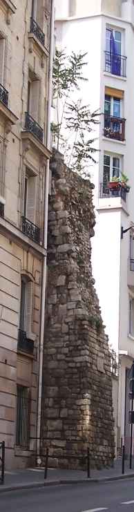
M 35 224 L 35 211 L 36 211 L 36 176 L 28 177 L 28 199 L 27 199 L 27 218 L 30 222 Z

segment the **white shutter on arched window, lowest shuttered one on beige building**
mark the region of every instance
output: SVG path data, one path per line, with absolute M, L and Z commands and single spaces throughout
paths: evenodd
M 28 281 L 26 283 L 26 303 L 25 303 L 25 329 L 26 332 L 32 332 L 32 290 L 33 283 Z

